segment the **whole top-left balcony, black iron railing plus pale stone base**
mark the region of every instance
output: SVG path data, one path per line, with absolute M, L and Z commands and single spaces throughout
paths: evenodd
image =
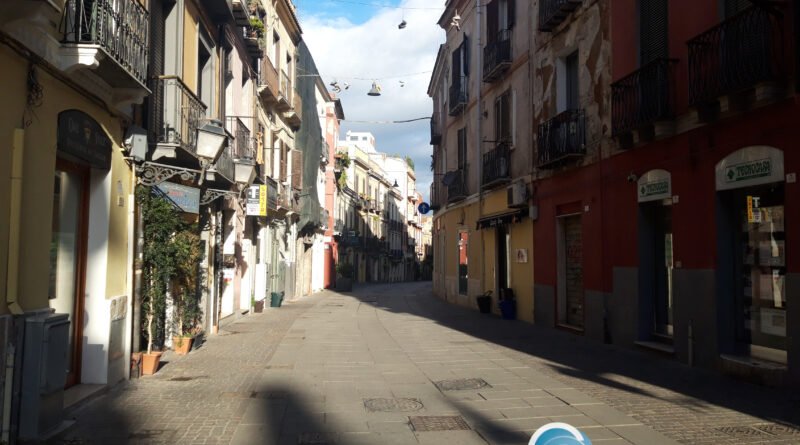
M 144 98 L 149 20 L 136 0 L 67 0 L 61 68 L 90 66 L 112 88 L 139 90 Z

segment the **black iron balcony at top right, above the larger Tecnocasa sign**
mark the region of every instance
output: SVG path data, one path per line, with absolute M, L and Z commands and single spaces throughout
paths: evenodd
M 708 104 L 780 80 L 785 74 L 782 20 L 774 10 L 752 6 L 689 40 L 689 104 Z

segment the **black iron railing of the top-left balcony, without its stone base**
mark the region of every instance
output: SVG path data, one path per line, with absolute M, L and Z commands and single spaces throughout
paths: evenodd
M 141 84 L 147 79 L 149 14 L 137 0 L 68 0 L 64 42 L 100 46 Z

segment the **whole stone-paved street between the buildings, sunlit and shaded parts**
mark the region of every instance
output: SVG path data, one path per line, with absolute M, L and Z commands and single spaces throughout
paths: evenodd
M 429 282 L 324 291 L 243 316 L 68 412 L 53 443 L 799 443 L 779 393 L 457 308 Z

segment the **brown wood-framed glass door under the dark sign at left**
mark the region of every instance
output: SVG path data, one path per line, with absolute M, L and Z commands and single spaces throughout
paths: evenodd
M 86 238 L 89 168 L 56 162 L 50 236 L 50 307 L 69 315 L 67 387 L 80 382 L 83 303 L 86 288 Z

